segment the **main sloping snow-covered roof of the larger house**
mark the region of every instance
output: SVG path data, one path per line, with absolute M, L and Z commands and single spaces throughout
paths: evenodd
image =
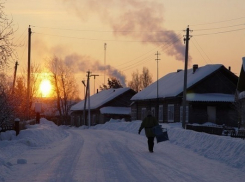
M 187 70 L 187 88 L 207 77 L 211 73 L 222 67 L 222 64 L 209 64 L 197 68 L 195 73 L 193 69 Z M 165 75 L 157 81 L 146 87 L 141 92 L 135 94 L 131 100 L 147 100 L 157 98 L 157 84 L 158 84 L 158 98 L 175 97 L 183 92 L 184 71 L 173 72 Z

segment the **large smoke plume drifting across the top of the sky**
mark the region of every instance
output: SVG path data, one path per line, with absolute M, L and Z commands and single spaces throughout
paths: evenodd
M 112 27 L 115 36 L 131 37 L 145 44 L 163 45 L 162 50 L 166 54 L 184 61 L 185 46 L 182 40 L 174 31 L 163 27 L 162 3 L 150 0 L 63 1 L 82 20 L 86 20 L 89 13 L 98 14 L 101 21 Z

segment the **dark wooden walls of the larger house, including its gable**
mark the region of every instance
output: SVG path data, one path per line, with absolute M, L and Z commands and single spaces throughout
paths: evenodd
M 194 73 L 195 74 L 195 73 Z M 187 93 L 224 93 L 235 94 L 237 76 L 227 70 L 225 67 L 217 70 L 213 74 L 207 76 L 205 79 L 196 83 L 192 87 L 189 87 Z M 180 93 L 176 97 L 159 99 L 159 105 L 163 105 L 163 121 L 169 122 L 169 105 L 174 106 L 174 122 L 182 122 L 181 118 L 181 106 L 182 106 L 183 93 Z M 142 119 L 141 110 L 151 107 L 156 107 L 157 101 L 155 100 L 141 100 L 135 101 L 132 109 L 137 109 L 137 119 Z M 188 122 L 190 123 L 205 123 L 208 121 L 207 107 L 212 106 L 216 108 L 216 120 L 217 124 L 226 124 L 230 126 L 236 125 L 235 117 L 236 112 L 233 109 L 232 103 L 226 102 L 191 102 L 188 103 Z M 157 108 L 156 108 L 157 109 Z M 158 116 L 157 116 L 158 117 Z

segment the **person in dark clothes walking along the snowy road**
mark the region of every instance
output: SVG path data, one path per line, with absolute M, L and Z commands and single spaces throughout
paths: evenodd
M 152 113 L 150 110 L 147 111 L 147 116 L 142 121 L 138 134 L 140 134 L 140 132 L 143 128 L 145 129 L 145 135 L 148 139 L 148 141 L 147 141 L 148 142 L 148 149 L 149 149 L 149 152 L 151 152 L 151 153 L 153 152 L 154 138 L 155 138 L 155 135 L 152 131 L 152 128 L 154 126 L 157 126 L 157 125 L 159 125 L 157 119 L 152 116 Z

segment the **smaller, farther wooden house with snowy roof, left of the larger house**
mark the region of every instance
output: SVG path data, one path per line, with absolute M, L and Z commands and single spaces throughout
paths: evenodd
M 80 101 L 79 103 L 71 107 L 72 123 L 74 125 L 84 125 L 84 115 L 88 120 L 88 112 L 90 108 L 90 120 L 91 124 L 102 124 L 106 121 L 113 119 L 125 119 L 130 120 L 131 109 L 130 109 L 130 99 L 136 92 L 130 88 L 118 88 L 118 89 L 108 89 L 102 90 L 90 97 L 90 107 L 88 106 L 88 100 Z M 85 119 L 85 121 L 87 121 Z

